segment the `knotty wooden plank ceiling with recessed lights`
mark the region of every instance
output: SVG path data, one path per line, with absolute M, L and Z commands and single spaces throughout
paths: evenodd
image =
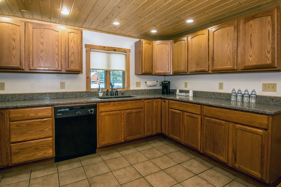
M 166 40 L 277 5 L 281 0 L 0 0 L 0 14 Z

